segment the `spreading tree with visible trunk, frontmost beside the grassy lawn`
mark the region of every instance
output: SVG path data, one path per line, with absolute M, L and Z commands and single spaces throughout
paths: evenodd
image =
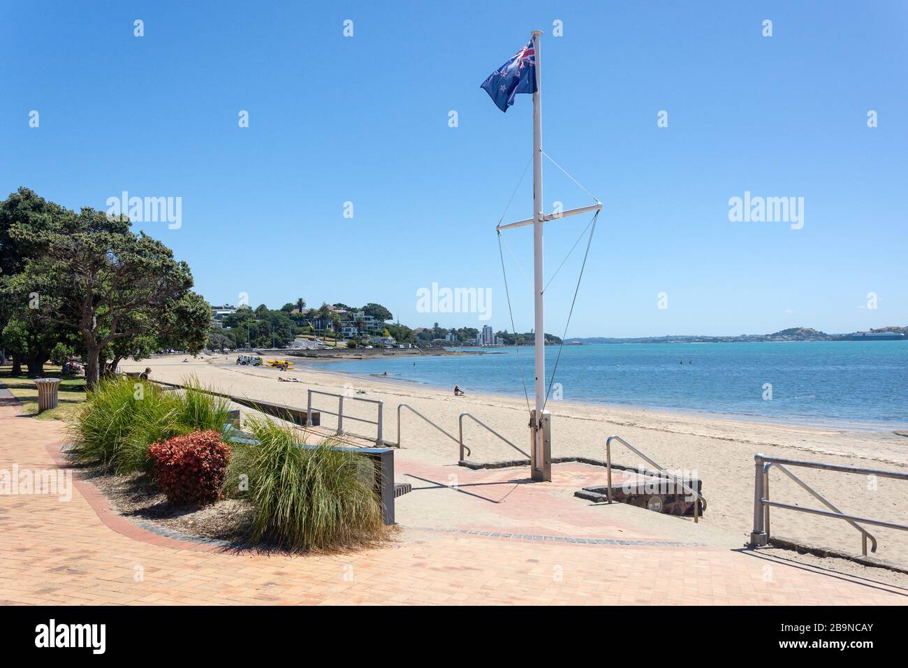
M 13 282 L 41 295 L 44 319 L 82 337 L 89 389 L 98 381 L 103 351 L 114 357 L 140 352 L 133 348 L 146 352 L 143 336 L 163 345 L 179 340 L 189 352 L 202 348 L 209 312 L 190 291 L 189 266 L 160 241 L 134 234 L 128 218 L 91 208 L 68 212 L 42 241 L 43 253 L 30 258 Z

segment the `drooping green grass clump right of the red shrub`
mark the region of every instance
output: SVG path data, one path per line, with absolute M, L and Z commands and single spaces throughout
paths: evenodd
M 333 449 L 331 440 L 301 448 L 296 431 L 268 419 L 253 419 L 249 428 L 258 444 L 232 445 L 225 491 L 236 496 L 248 481 L 253 543 L 309 552 L 388 538 L 367 457 Z

